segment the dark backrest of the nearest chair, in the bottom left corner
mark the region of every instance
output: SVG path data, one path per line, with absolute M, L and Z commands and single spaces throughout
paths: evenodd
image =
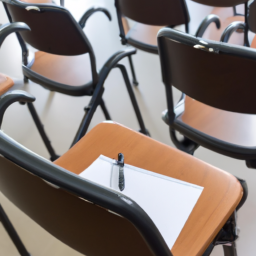
M 128 197 L 40 158 L 1 131 L 0 154 L 9 159 L 0 157 L 0 191 L 71 248 L 87 256 L 172 256 Z

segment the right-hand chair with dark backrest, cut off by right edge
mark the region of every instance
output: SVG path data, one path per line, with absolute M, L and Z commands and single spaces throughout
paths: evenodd
M 163 119 L 176 147 L 193 154 L 201 145 L 255 168 L 256 51 L 172 29 L 159 32 L 158 45 L 168 105 Z M 172 86 L 183 93 L 176 106 Z

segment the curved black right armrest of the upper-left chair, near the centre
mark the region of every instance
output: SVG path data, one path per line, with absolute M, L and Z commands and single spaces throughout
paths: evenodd
M 116 52 L 114 55 L 112 55 L 107 62 L 104 64 L 102 69 L 99 73 L 99 84 L 103 85 L 104 81 L 106 80 L 109 72 L 114 68 L 120 60 L 123 58 L 130 56 L 132 54 L 136 53 L 136 49 L 132 47 L 127 47 L 119 52 Z

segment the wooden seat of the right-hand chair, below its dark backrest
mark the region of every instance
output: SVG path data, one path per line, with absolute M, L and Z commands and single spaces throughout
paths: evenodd
M 256 146 L 256 115 L 220 110 L 186 96 L 185 111 L 178 119 L 220 140 Z

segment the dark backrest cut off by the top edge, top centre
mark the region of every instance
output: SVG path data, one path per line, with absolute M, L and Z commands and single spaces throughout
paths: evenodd
M 189 22 L 184 0 L 116 0 L 118 11 L 140 23 L 174 26 Z

